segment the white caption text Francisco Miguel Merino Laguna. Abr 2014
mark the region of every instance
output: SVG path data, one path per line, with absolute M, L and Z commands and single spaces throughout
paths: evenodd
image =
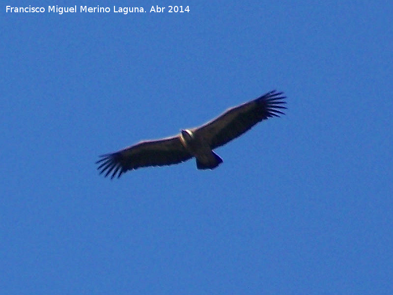
M 12 7 L 6 6 L 6 12 L 13 12 L 13 13 L 29 13 L 29 12 L 45 12 L 45 7 Z M 56 12 L 58 14 L 63 14 L 64 12 L 77 12 L 77 5 L 70 6 L 70 7 L 58 7 L 56 6 L 48 6 L 48 12 Z M 110 7 L 87 7 L 82 6 L 80 8 L 80 12 L 111 12 Z M 144 10 L 143 7 L 116 7 L 113 6 L 113 12 L 119 12 L 123 14 L 132 13 L 132 12 L 147 12 Z M 188 6 L 168 6 L 161 7 L 161 6 L 151 6 L 149 12 L 190 12 L 190 8 Z

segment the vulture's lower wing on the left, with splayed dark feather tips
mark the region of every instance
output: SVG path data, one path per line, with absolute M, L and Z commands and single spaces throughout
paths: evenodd
M 143 141 L 135 146 L 124 148 L 114 153 L 101 156 L 100 174 L 105 177 L 112 173 L 111 178 L 120 177 L 128 170 L 148 166 L 164 166 L 177 164 L 190 159 L 192 155 L 183 147 L 178 136 L 161 140 Z

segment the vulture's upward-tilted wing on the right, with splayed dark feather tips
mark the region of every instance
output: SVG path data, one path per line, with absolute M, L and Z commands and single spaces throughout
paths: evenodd
M 193 131 L 201 136 L 214 149 L 225 145 L 232 139 L 251 129 L 256 123 L 284 115 L 280 109 L 286 97 L 283 92 L 270 91 L 252 101 L 233 107 L 219 117 L 195 128 Z

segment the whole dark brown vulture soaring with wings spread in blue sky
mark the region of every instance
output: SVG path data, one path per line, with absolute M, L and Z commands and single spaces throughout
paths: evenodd
M 181 130 L 180 134 L 159 140 L 141 141 L 119 151 L 101 155 L 96 162 L 100 174 L 120 177 L 128 170 L 148 166 L 164 166 L 197 160 L 197 169 L 214 169 L 223 160 L 213 149 L 251 129 L 256 123 L 284 115 L 286 97 L 283 92 L 270 91 L 252 101 L 226 110 L 219 117 L 200 127 Z

